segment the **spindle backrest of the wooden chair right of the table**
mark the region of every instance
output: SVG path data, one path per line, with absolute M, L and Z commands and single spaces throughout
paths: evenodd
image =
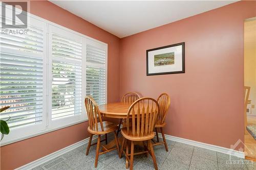
M 159 95 L 159 97 L 157 98 L 157 102 L 159 104 L 160 110 L 159 110 L 159 114 L 158 114 L 158 118 L 157 118 L 157 123 L 158 124 L 163 124 L 167 111 L 169 109 L 170 106 L 170 97 L 167 93 L 162 93 Z

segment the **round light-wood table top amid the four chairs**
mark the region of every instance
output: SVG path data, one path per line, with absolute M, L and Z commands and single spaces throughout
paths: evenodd
M 126 118 L 127 112 L 132 103 L 108 103 L 100 105 L 99 110 L 105 117 Z

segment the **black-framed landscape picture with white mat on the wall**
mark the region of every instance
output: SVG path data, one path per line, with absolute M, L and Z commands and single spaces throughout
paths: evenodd
M 146 75 L 178 74 L 185 72 L 185 42 L 146 51 Z

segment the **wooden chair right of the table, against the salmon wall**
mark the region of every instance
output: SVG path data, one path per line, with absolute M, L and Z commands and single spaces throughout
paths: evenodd
M 166 143 L 166 140 L 165 140 L 163 127 L 166 125 L 166 123 L 164 121 L 165 121 L 165 117 L 166 117 L 168 108 L 170 106 L 169 95 L 167 93 L 160 94 L 159 97 L 157 98 L 157 102 L 159 104 L 160 110 L 159 110 L 159 114 L 158 114 L 158 118 L 157 118 L 157 122 L 156 122 L 156 126 L 155 126 L 157 142 L 154 143 L 153 145 L 164 144 L 165 150 L 166 150 L 166 152 L 168 152 L 168 147 L 167 147 L 167 143 Z M 162 137 L 163 137 L 163 142 L 159 142 L 157 128 L 160 128 L 160 130 L 161 130 Z

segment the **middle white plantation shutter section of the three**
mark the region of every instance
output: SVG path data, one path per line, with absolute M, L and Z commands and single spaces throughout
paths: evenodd
M 82 38 L 51 26 L 50 127 L 81 120 L 82 114 Z

